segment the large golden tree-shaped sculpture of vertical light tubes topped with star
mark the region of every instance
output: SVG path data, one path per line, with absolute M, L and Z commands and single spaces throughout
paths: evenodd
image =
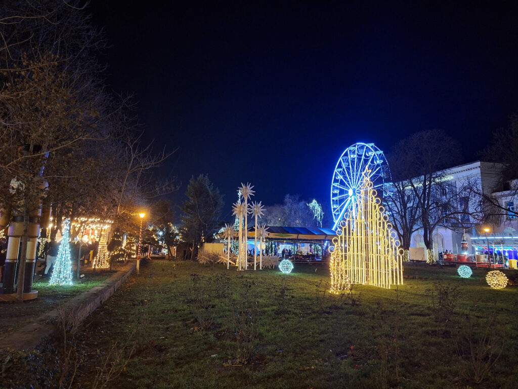
M 357 205 L 340 223 L 330 261 L 331 291 L 347 290 L 348 282 L 390 289 L 403 284 L 402 253 L 396 232 L 372 188 L 369 171 L 363 174 Z

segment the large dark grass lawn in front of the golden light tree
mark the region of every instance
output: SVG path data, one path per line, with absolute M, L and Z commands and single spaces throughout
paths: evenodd
M 485 274 L 409 265 L 335 296 L 324 267 L 154 261 L 87 319 L 73 387 L 516 388 L 518 288 Z

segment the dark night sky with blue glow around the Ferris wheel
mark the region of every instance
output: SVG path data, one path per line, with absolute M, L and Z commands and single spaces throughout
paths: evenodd
M 162 168 L 207 173 L 231 220 L 241 182 L 270 205 L 323 202 L 355 142 L 384 151 L 443 129 L 465 161 L 518 110 L 518 4 L 96 0 L 101 61 L 131 92 L 146 136 L 178 151 Z M 167 2 L 168 3 L 168 2 Z

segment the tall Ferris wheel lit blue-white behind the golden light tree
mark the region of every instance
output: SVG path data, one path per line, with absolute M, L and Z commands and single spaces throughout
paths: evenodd
M 344 215 L 355 212 L 357 196 L 363 181 L 363 173 L 370 171 L 372 188 L 383 196 L 384 184 L 390 182 L 389 164 L 383 151 L 373 143 L 355 143 L 349 146 L 340 156 L 333 172 L 331 184 L 331 211 L 334 226 Z

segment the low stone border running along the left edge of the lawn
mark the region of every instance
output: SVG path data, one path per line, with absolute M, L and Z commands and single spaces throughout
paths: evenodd
M 71 298 L 63 303 L 61 307 L 65 307 L 70 312 L 73 312 L 78 323 L 82 322 L 100 304 L 108 300 L 135 269 L 136 265 L 134 264 L 125 266 L 108 280 L 103 281 L 79 296 Z M 57 308 L 35 318 L 33 322 L 26 324 L 0 340 L 0 349 L 27 352 L 34 350 L 44 337 L 54 332 L 59 310 L 60 308 Z

